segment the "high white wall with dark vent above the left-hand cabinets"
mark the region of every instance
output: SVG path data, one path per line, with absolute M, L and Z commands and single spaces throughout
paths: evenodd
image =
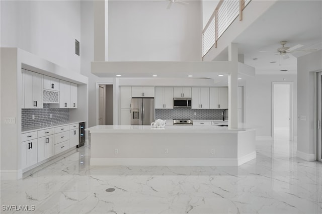
M 1 47 L 18 47 L 79 73 L 80 16 L 79 1 L 1 1 Z

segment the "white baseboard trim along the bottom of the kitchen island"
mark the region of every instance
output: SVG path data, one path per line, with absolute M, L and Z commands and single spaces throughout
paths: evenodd
M 92 166 L 239 166 L 256 158 L 256 152 L 240 158 L 91 158 Z

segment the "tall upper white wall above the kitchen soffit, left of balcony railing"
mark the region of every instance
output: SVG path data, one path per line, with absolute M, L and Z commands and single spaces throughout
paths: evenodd
M 200 61 L 201 1 L 109 1 L 109 61 Z

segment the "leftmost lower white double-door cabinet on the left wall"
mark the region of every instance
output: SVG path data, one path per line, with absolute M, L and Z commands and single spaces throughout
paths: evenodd
M 22 169 L 37 163 L 37 139 L 21 143 L 21 161 Z

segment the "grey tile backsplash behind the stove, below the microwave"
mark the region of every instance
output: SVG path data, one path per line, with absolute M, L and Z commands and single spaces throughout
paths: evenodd
M 155 109 L 155 120 L 162 119 L 191 119 L 191 120 L 222 120 L 223 109 Z M 196 113 L 196 116 L 194 115 Z M 225 111 L 225 120 L 228 120 Z

